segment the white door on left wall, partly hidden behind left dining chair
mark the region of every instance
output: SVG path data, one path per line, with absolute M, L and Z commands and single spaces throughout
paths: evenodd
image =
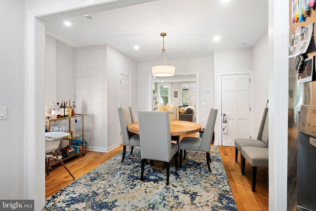
M 130 83 L 129 76 L 119 74 L 119 107 L 130 106 Z M 122 135 L 119 128 L 119 143 L 122 143 Z

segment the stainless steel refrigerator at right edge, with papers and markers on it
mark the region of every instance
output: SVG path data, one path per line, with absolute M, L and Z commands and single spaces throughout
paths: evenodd
M 289 1 L 290 8 L 292 0 Z M 289 12 L 289 44 L 293 43 L 292 35 L 299 27 L 306 27 L 316 22 L 315 8 L 310 11 L 306 22 L 292 23 L 292 11 Z M 312 134 L 300 131 L 300 113 L 302 105 L 316 106 L 315 55 L 316 30 L 310 31 L 312 38 L 303 58 L 313 58 L 313 72 L 310 80 L 300 80 L 296 71 L 296 57 L 289 58 L 289 98 L 288 98 L 288 171 L 287 171 L 287 210 L 316 211 L 316 147 L 310 143 Z M 296 37 L 297 39 L 297 37 Z M 304 39 L 304 38 L 302 38 Z M 291 53 L 291 49 L 289 50 Z M 303 107 L 304 108 L 304 107 Z M 316 111 L 316 107 L 315 108 Z M 306 111 L 303 112 L 306 122 Z M 308 119 L 312 121 L 312 119 Z M 315 120 L 316 121 L 316 120 Z M 309 123 L 310 124 L 310 123 Z M 316 127 L 315 127 L 316 132 Z M 316 134 L 316 133 L 315 133 Z

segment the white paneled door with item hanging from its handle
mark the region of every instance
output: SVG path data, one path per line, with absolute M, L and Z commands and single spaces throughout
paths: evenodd
M 227 132 L 222 133 L 223 146 L 235 146 L 235 138 L 250 138 L 250 76 L 222 76 L 222 121 L 226 114 Z

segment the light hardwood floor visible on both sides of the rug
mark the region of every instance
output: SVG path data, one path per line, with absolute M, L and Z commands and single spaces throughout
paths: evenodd
M 85 156 L 65 161 L 76 179 L 100 166 L 123 150 L 122 146 L 109 153 L 87 151 Z M 240 154 L 235 163 L 235 147 L 219 146 L 223 164 L 233 191 L 238 211 L 268 211 L 268 168 L 258 168 L 256 192 L 251 191 L 251 166 L 246 163 L 245 175 L 240 172 Z M 205 161 L 206 165 L 206 161 Z M 46 198 L 73 182 L 73 178 L 61 166 L 53 167 L 46 176 Z

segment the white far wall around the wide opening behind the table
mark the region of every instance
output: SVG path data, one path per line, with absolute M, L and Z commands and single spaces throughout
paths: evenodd
M 197 91 L 199 92 L 199 99 L 197 98 L 197 100 L 199 102 L 197 102 L 197 105 L 200 105 L 200 102 L 205 102 L 205 106 L 197 108 L 197 122 L 205 127 L 208 112 L 214 106 L 213 56 L 172 60 L 172 63 L 176 67 L 176 75 L 198 73 Z M 155 64 L 154 61 L 137 63 L 138 109 L 141 110 L 152 110 L 151 67 L 153 64 Z M 209 89 L 210 93 L 205 93 L 205 89 Z

